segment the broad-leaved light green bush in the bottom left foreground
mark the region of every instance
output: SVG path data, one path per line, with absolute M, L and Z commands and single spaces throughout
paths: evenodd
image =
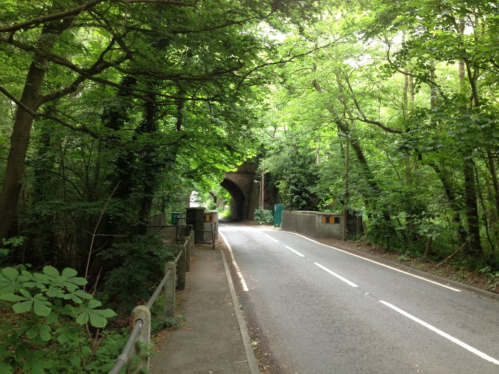
M 85 292 L 87 281 L 74 269 L 61 273 L 45 266 L 41 273 L 6 267 L 1 270 L 2 314 L 0 372 L 43 374 L 98 373 L 111 369 L 125 339 L 100 334 L 111 309 Z M 94 334 L 91 333 L 94 331 Z

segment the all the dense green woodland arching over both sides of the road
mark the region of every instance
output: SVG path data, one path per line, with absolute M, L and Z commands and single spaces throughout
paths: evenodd
M 94 292 L 143 299 L 172 255 L 137 235 L 148 218 L 247 160 L 272 203 L 346 203 L 366 225 L 350 239 L 435 259 L 460 249 L 499 277 L 498 38 L 498 6 L 474 0 L 2 0 L 1 298 L 31 313 L 34 346 L 53 334 L 81 353 L 83 339 L 74 373 L 99 372 L 121 341 L 78 333 L 113 315 Z M 47 286 L 58 276 L 65 294 Z M 51 310 L 76 318 L 73 335 Z M 23 336 L 0 345 L 1 369 L 57 365 L 12 353 Z

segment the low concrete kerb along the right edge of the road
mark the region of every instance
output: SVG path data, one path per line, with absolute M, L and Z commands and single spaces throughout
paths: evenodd
M 332 245 L 323 244 L 323 243 L 317 241 L 316 239 L 309 238 L 309 237 L 307 237 L 307 236 L 305 236 L 305 235 L 303 235 L 301 233 L 292 232 L 292 231 L 288 231 L 288 232 L 291 232 L 292 234 L 295 234 L 295 235 L 298 235 L 298 236 L 303 236 L 303 237 L 305 237 L 307 239 L 313 240 L 313 241 L 315 241 L 315 242 L 317 242 L 317 243 L 319 243 L 319 244 L 321 244 L 321 245 L 323 245 L 325 247 L 329 247 L 329 248 L 333 248 L 333 249 L 340 249 L 340 250 L 343 250 L 343 251 L 346 251 L 346 252 L 350 252 L 350 253 L 353 253 L 353 254 L 355 254 L 355 255 L 357 255 L 359 257 L 365 257 L 365 258 L 368 258 L 370 260 L 380 262 L 382 264 L 394 267 L 394 268 L 399 269 L 399 270 L 406 271 L 408 273 L 412 273 L 412 274 L 418 275 L 418 276 L 423 277 L 423 278 L 430 279 L 430 280 L 435 281 L 435 282 L 447 284 L 449 286 L 460 288 L 460 289 L 462 289 L 464 291 L 472 292 L 475 295 L 478 295 L 480 297 L 486 297 L 486 298 L 489 298 L 489 299 L 492 299 L 492 300 L 499 300 L 499 294 L 497 294 L 495 292 L 492 292 L 492 291 L 487 291 L 487 290 L 484 290 L 482 288 L 478 288 L 478 287 L 470 286 L 468 284 L 456 282 L 456 281 L 454 281 L 452 279 L 442 278 L 442 277 L 439 277 L 438 275 L 430 274 L 430 273 L 427 273 L 426 271 L 423 271 L 423 270 L 419 270 L 419 269 L 415 269 L 415 268 L 412 268 L 412 267 L 409 267 L 409 266 L 405 266 L 405 265 L 399 264 L 398 262 L 393 262 L 393 261 L 384 259 L 382 257 L 377 257 L 376 255 L 373 255 L 371 253 L 366 253 L 366 252 L 358 251 L 356 249 L 347 248 L 347 247 L 344 247 L 344 246 L 341 246 L 341 245 L 338 245 L 338 248 L 336 248 L 336 247 L 333 247 Z

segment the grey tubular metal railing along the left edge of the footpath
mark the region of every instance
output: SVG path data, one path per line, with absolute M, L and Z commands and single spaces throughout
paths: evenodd
M 145 308 L 147 308 L 147 310 L 150 311 L 154 302 L 158 298 L 158 295 L 160 294 L 161 290 L 163 289 L 163 287 L 165 287 L 165 284 L 166 284 L 168 278 L 170 277 L 170 275 L 172 275 L 177 264 L 179 264 L 179 266 L 178 266 L 179 280 L 178 280 L 177 286 L 180 289 L 185 288 L 185 273 L 186 273 L 186 271 L 189 271 L 189 263 L 190 263 L 190 256 L 191 256 L 190 249 L 193 247 L 193 245 L 191 245 L 191 243 L 194 244 L 194 231 L 191 231 L 190 235 L 186 236 L 186 240 L 185 240 L 184 244 L 182 246 L 180 246 L 183 249 L 180 249 L 175 260 L 172 262 L 168 262 L 165 265 L 165 267 L 167 268 L 167 269 L 165 269 L 166 270 L 165 276 L 163 277 L 163 279 L 159 283 L 158 287 L 154 291 L 153 295 L 149 298 L 149 301 L 145 305 Z M 180 263 L 179 263 L 179 261 L 180 261 Z M 174 277 L 173 285 L 175 285 L 175 274 L 173 274 L 173 277 Z M 175 291 L 173 292 L 173 298 L 175 298 Z M 165 306 L 166 306 L 166 302 L 167 301 L 166 301 L 166 296 L 165 296 Z M 173 300 L 173 303 L 174 302 L 175 302 L 175 300 Z M 132 317 L 135 315 L 136 309 L 140 308 L 140 307 L 141 306 L 138 306 L 134 309 L 134 311 L 132 312 Z M 144 306 L 142 306 L 142 308 L 144 308 Z M 165 316 L 166 317 L 173 317 L 173 309 L 171 312 L 172 313 L 168 313 L 167 311 L 165 311 Z M 167 314 L 172 314 L 172 315 L 168 316 Z M 118 358 L 116 359 L 116 361 L 114 362 L 114 366 L 109 371 L 109 374 L 119 374 L 121 372 L 121 370 L 128 364 L 130 359 L 134 356 L 134 354 L 136 354 L 136 352 L 134 352 L 134 351 L 136 351 L 135 345 L 136 345 L 137 341 L 139 340 L 140 334 L 142 333 L 142 328 L 144 327 L 144 322 L 145 321 L 141 318 L 137 318 L 137 319 L 134 318 L 134 321 L 131 321 L 131 323 L 134 323 L 134 327 L 130 333 L 130 337 L 128 338 L 128 341 L 127 341 L 125 348 L 123 349 L 121 355 L 119 355 Z M 150 329 L 150 318 L 149 318 L 147 325 Z M 144 360 L 142 360 L 142 361 L 144 361 Z M 145 361 L 146 362 L 143 363 L 143 366 L 148 367 L 149 366 L 148 359 L 146 359 Z M 138 370 L 137 370 L 137 372 L 138 372 Z

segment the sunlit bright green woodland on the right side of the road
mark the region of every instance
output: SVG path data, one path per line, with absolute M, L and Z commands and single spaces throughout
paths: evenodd
M 326 46 L 267 96 L 264 166 L 285 206 L 341 211 L 347 135 L 347 205 L 369 240 L 498 270 L 498 15 L 483 1 L 319 15 L 309 48 Z

